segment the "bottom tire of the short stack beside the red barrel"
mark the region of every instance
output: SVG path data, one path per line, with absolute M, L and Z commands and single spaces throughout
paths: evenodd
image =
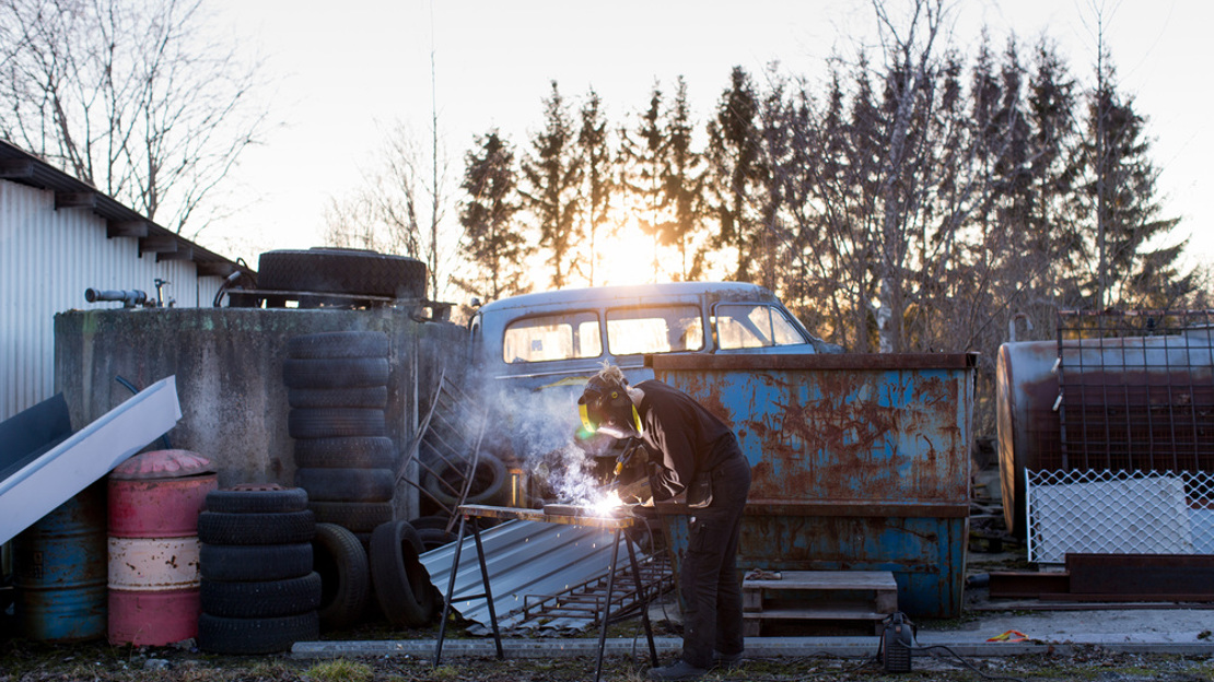
M 272 654 L 320 636 L 314 610 L 278 618 L 198 616 L 198 648 L 217 654 Z

